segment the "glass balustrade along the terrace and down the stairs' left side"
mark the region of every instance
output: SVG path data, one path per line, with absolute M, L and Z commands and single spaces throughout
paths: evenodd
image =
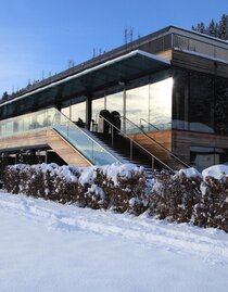
M 0 122 L 0 138 L 45 129 L 55 129 L 93 165 L 119 163 L 88 134 L 55 109 L 30 113 Z

